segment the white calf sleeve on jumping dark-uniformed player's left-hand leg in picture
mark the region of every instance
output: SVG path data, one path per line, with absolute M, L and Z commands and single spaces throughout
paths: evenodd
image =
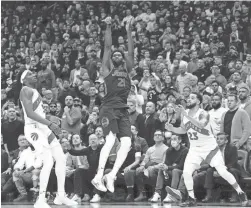
M 115 140 L 116 137 L 115 135 L 110 132 L 105 139 L 105 144 L 100 152 L 100 156 L 99 156 L 99 167 L 98 167 L 98 175 L 102 175 L 104 174 L 104 168 L 105 168 L 105 164 L 107 162 L 107 159 L 109 157 L 109 154 L 111 152 L 111 149 L 113 147 L 113 145 L 115 144 Z

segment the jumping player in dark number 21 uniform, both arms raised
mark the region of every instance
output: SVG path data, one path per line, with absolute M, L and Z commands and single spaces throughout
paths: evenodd
M 98 171 L 92 180 L 92 184 L 100 191 L 106 192 L 108 189 L 110 192 L 114 192 L 116 175 L 131 148 L 131 124 L 127 112 L 127 98 L 131 89 L 131 81 L 128 73 L 133 67 L 134 49 L 131 35 L 131 21 L 126 25 L 128 38 L 127 56 L 119 50 L 111 51 L 112 20 L 110 17 L 107 17 L 104 21 L 107 27 L 105 32 L 102 73 L 104 76 L 106 94 L 100 107 L 100 121 L 106 137 L 106 142 L 101 150 Z M 115 143 L 116 136 L 120 139 L 121 147 L 117 153 L 112 171 L 103 177 L 104 168 L 110 151 Z

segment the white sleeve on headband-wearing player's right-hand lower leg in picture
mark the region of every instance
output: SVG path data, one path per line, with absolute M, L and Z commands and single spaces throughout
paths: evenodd
M 52 156 L 56 161 L 55 173 L 57 176 L 58 196 L 65 195 L 65 174 L 66 174 L 66 160 L 63 149 L 60 145 L 56 145 L 51 149 Z

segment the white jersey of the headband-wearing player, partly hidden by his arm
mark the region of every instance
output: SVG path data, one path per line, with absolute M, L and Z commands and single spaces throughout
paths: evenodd
M 42 118 L 45 118 L 45 112 L 44 112 L 44 109 L 43 109 L 43 101 L 42 101 L 42 97 L 41 95 L 38 93 L 38 91 L 36 89 L 33 89 L 31 88 L 32 91 L 33 91 L 33 95 L 32 95 L 32 105 L 33 105 L 33 111 L 35 113 L 37 113 L 38 115 L 40 115 Z M 38 125 L 38 126 L 41 126 L 43 124 L 37 122 L 37 121 L 34 121 L 30 118 L 27 117 L 27 113 L 25 112 L 25 108 L 24 108 L 24 105 L 21 101 L 21 104 L 22 104 L 22 107 L 23 107 L 23 112 L 24 112 L 24 122 L 25 122 L 25 125 L 29 125 L 29 124 L 35 124 L 35 125 Z

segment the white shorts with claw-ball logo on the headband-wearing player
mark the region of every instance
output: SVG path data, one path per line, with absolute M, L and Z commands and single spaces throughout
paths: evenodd
M 26 124 L 24 126 L 24 135 L 38 154 L 42 153 L 44 148 L 60 145 L 54 133 L 45 125 Z M 49 140 L 52 141 L 50 144 Z

